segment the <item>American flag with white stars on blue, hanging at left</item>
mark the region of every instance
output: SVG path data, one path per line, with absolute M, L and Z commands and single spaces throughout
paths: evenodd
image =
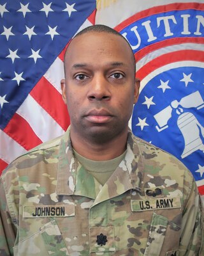
M 66 131 L 64 50 L 95 14 L 95 0 L 0 0 L 0 173 Z

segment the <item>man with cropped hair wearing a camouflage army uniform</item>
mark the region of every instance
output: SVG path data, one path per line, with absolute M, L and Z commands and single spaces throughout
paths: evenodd
M 191 173 L 128 129 L 138 99 L 135 58 L 105 26 L 65 56 L 71 125 L 1 176 L 0 255 L 204 255 Z

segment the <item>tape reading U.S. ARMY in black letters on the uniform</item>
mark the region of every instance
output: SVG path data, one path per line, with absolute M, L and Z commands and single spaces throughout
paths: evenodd
M 132 211 L 150 211 L 155 209 L 180 208 L 180 197 L 149 198 L 145 200 L 131 200 Z

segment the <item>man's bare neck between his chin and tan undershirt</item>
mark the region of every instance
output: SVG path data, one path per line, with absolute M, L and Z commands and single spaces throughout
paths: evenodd
M 106 143 L 94 143 L 94 141 L 85 140 L 72 131 L 70 136 L 72 146 L 78 154 L 94 161 L 106 161 L 124 153 L 128 131 L 119 134 L 119 136 Z

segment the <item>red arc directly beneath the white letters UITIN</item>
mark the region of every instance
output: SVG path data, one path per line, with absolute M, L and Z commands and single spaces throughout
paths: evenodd
M 182 38 L 170 38 L 166 39 L 162 42 L 157 42 L 152 45 L 148 45 L 144 47 L 140 51 L 135 53 L 135 60 L 139 61 L 143 58 L 143 56 L 149 54 L 150 52 L 156 51 L 157 49 L 161 49 L 163 47 L 168 47 L 170 45 L 177 44 L 185 44 L 185 43 L 193 43 L 193 44 L 204 44 L 204 38 L 199 37 L 182 37 Z

